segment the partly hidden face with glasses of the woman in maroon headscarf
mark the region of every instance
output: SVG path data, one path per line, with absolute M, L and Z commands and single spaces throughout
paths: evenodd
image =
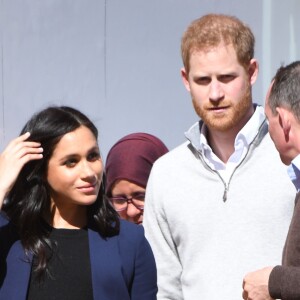
M 143 208 L 145 189 L 128 180 L 118 180 L 112 190 L 113 197 L 122 197 L 129 200 L 127 208 L 122 211 L 118 211 L 122 219 L 128 220 L 136 224 L 142 224 L 143 222 Z M 114 204 L 113 204 L 114 205 Z M 115 208 L 117 208 L 114 205 Z

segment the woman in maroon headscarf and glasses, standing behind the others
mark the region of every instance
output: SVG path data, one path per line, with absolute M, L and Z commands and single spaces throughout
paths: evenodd
M 168 152 L 148 133 L 132 133 L 117 141 L 106 159 L 106 195 L 122 219 L 141 224 L 145 190 L 153 163 Z

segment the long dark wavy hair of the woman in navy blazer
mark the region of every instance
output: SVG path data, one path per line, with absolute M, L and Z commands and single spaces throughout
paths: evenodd
M 47 166 L 60 139 L 69 132 L 85 126 L 98 139 L 95 125 L 80 111 L 67 106 L 51 106 L 35 115 L 26 123 L 21 135 L 30 132 L 29 141 L 41 143 L 43 158 L 28 162 L 21 170 L 9 192 L 3 211 L 16 226 L 26 253 L 36 257 L 35 272 L 42 278 L 47 272 L 49 248 L 53 250 L 45 217 L 50 213 L 50 193 L 46 181 Z M 96 201 L 88 206 L 88 225 L 103 238 L 118 234 L 118 214 L 104 197 L 104 179 Z M 48 228 L 48 229 L 47 229 Z

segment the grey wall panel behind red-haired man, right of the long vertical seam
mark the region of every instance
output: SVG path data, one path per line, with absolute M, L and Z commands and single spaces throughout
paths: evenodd
M 255 20 L 247 0 L 107 1 L 108 101 L 102 134 L 108 145 L 134 131 L 154 133 L 170 148 L 184 141 L 184 131 L 198 118 L 180 78 L 183 31 L 203 14 L 230 13 L 260 40 L 261 1 L 251 1 L 251 11 Z M 255 95 L 260 89 L 258 82 Z

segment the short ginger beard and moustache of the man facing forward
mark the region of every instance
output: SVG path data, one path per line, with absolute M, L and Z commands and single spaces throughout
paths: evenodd
M 245 118 L 245 115 L 250 110 L 252 106 L 252 97 L 251 97 L 251 89 L 246 88 L 246 92 L 242 99 L 236 103 L 234 106 L 230 100 L 223 100 L 220 102 L 216 102 L 214 105 L 206 105 L 204 107 L 200 107 L 199 104 L 193 98 L 193 105 L 198 116 L 203 120 L 206 126 L 209 129 L 217 130 L 217 131 L 227 131 L 235 126 L 239 125 L 241 120 Z M 227 107 L 230 106 L 229 109 L 226 109 L 224 114 L 220 113 L 217 115 L 210 111 L 209 108 L 217 108 L 217 107 Z

